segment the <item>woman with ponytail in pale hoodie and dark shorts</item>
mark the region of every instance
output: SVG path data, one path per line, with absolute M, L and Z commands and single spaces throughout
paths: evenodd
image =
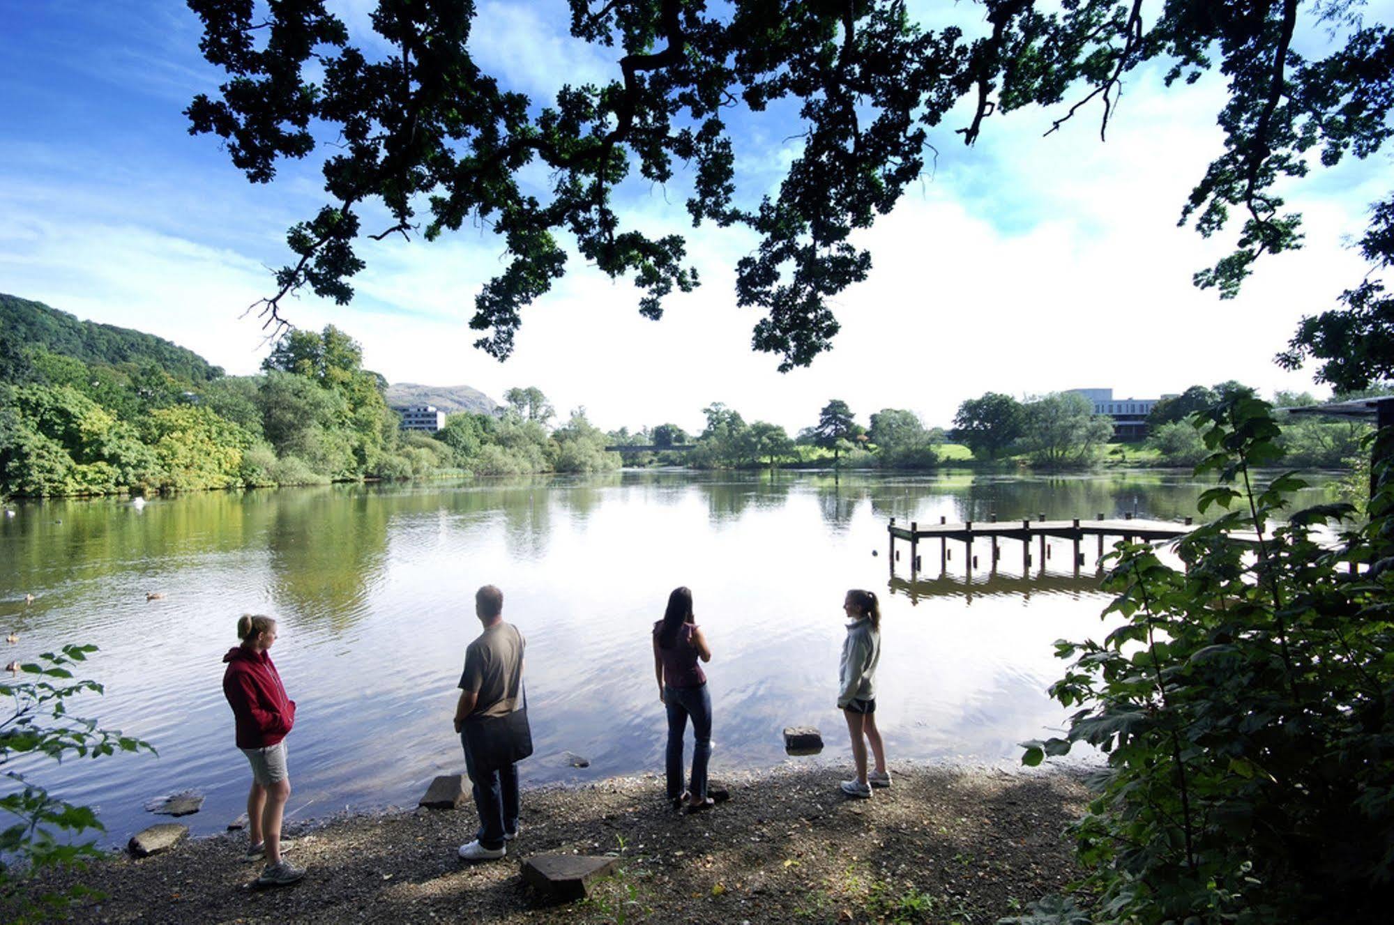
M 885 768 L 885 744 L 875 727 L 875 666 L 881 660 L 881 609 L 875 593 L 849 591 L 842 602 L 852 623 L 842 644 L 838 709 L 848 717 L 852 734 L 852 761 L 857 776 L 842 782 L 842 793 L 867 798 L 871 787 L 889 787 L 891 772 Z M 875 756 L 875 770 L 867 773 L 867 743 Z

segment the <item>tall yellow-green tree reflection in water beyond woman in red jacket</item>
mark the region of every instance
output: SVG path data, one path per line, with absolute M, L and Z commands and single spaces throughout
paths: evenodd
M 268 531 L 272 593 L 282 612 L 343 631 L 362 616 L 382 580 L 388 550 L 386 499 L 357 486 L 282 489 Z

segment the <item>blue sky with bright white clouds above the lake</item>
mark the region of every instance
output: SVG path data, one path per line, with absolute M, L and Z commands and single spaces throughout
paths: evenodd
M 371 1 L 330 6 L 371 49 Z M 930 22 L 977 10 L 913 6 Z M 1391 6 L 1370 4 L 1368 15 L 1388 21 Z M 566 24 L 560 0 L 484 1 L 474 53 L 535 99 L 618 72 Z M 0 291 L 158 333 L 245 373 L 266 345 L 243 311 L 268 293 L 265 267 L 286 259 L 286 227 L 323 196 L 314 159 L 252 187 L 216 139 L 187 134 L 181 110 L 219 82 L 198 39 L 198 20 L 176 0 L 0 0 Z M 573 259 L 524 313 L 514 358 L 498 364 L 470 347 L 466 325 L 475 291 L 502 266 L 502 248 L 477 230 L 365 245 L 369 269 L 351 306 L 304 298 L 287 313 L 348 330 L 390 380 L 493 396 L 537 384 L 604 426 L 696 426 L 711 401 L 795 429 L 831 397 L 863 417 L 909 407 L 947 423 L 959 401 L 990 389 L 1149 397 L 1231 378 L 1308 389 L 1308 375 L 1271 357 L 1301 315 L 1331 306 L 1363 272 L 1345 240 L 1387 192 L 1388 155 L 1317 171 L 1292 191 L 1309 247 L 1266 261 L 1238 300 L 1220 302 L 1189 279 L 1232 238 L 1207 242 L 1175 221 L 1218 150 L 1223 89 L 1207 78 L 1163 91 L 1156 71 L 1138 74 L 1105 145 L 1093 111 L 1044 139 L 1048 113 L 990 120 L 973 149 L 952 134 L 966 118 L 951 117 L 931 138 L 934 176 L 863 235 L 873 277 L 838 300 L 843 332 L 813 369 L 781 375 L 775 358 L 749 350 L 757 315 L 735 306 L 732 267 L 753 240 L 691 233 L 683 177 L 666 191 L 633 182 L 620 192 L 629 221 L 689 234 L 703 272 L 703 287 L 671 298 L 659 323 L 638 318 L 627 281 Z M 778 181 L 795 131 L 788 109 L 735 123 L 746 189 Z

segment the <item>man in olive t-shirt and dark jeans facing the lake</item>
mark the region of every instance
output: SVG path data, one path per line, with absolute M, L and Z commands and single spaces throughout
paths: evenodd
M 464 651 L 460 699 L 454 708 L 454 731 L 461 733 L 464 766 L 474 784 L 474 805 L 480 830 L 474 841 L 460 846 L 466 861 L 492 861 L 506 854 L 505 843 L 519 832 L 517 765 L 482 770 L 463 736 L 467 720 L 478 716 L 507 716 L 523 705 L 523 649 L 517 627 L 503 623 L 503 592 L 484 585 L 474 595 L 474 613 L 484 632 Z

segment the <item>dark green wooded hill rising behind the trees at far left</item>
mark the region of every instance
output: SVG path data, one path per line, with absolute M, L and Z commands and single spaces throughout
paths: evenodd
M 208 382 L 223 375 L 219 366 L 155 334 L 130 327 L 84 322 L 74 315 L 17 295 L 0 293 L 0 333 L 14 343 L 39 345 L 82 362 L 144 365 L 152 362 L 191 382 Z

